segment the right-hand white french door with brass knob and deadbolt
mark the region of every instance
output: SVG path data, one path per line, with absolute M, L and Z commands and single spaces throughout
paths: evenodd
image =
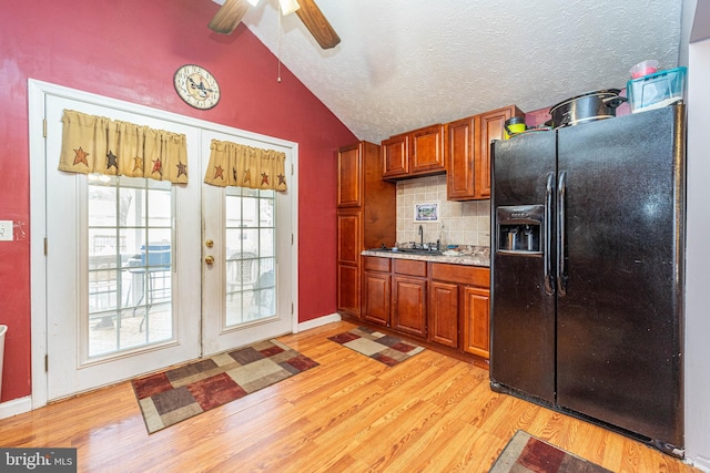
M 212 140 L 283 151 L 286 169 L 292 167 L 291 150 L 276 143 L 203 131 L 204 155 Z M 207 165 L 204 160 L 203 175 L 212 171 Z M 205 354 L 292 331 L 292 195 L 203 185 Z

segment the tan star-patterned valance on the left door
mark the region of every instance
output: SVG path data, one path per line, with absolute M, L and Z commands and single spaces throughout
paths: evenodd
M 184 134 L 64 110 L 59 169 L 187 183 Z

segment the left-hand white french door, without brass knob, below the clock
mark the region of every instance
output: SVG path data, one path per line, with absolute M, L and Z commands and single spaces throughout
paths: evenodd
M 190 126 L 47 97 L 49 400 L 200 356 L 200 186 L 58 171 L 64 109 L 184 133 L 200 152 Z

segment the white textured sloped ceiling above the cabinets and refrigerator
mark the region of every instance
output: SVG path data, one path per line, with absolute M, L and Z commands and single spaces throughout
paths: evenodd
M 221 0 L 214 0 L 222 3 Z M 322 50 L 276 0 L 247 28 L 359 138 L 511 103 L 549 107 L 678 65 L 682 0 L 316 0 L 342 42 Z M 276 80 L 276 74 L 274 74 Z

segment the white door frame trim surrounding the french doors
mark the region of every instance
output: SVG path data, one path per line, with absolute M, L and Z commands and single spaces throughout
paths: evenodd
M 47 95 L 58 95 L 77 101 L 95 103 L 118 110 L 125 110 L 160 120 L 172 121 L 204 130 L 213 130 L 226 134 L 244 136 L 253 141 L 263 142 L 265 145 L 275 143 L 291 150 L 293 175 L 288 184 L 288 192 L 293 193 L 291 199 L 291 214 L 293 217 L 293 258 L 291 267 L 291 291 L 293 295 L 294 312 L 292 318 L 292 331 L 297 331 L 298 321 L 298 144 L 285 140 L 274 138 L 257 133 L 233 128 L 200 119 L 179 115 L 144 105 L 138 105 L 115 99 L 82 92 L 75 89 L 55 85 L 48 82 L 28 80 L 29 101 L 29 151 L 30 151 L 30 287 L 31 287 L 31 367 L 32 367 L 32 409 L 45 405 L 48 402 L 48 374 L 45 372 L 47 356 L 47 271 L 44 268 L 44 240 L 47 236 L 47 189 L 44 165 L 44 101 Z M 202 181 L 202 176 L 192 177 Z

